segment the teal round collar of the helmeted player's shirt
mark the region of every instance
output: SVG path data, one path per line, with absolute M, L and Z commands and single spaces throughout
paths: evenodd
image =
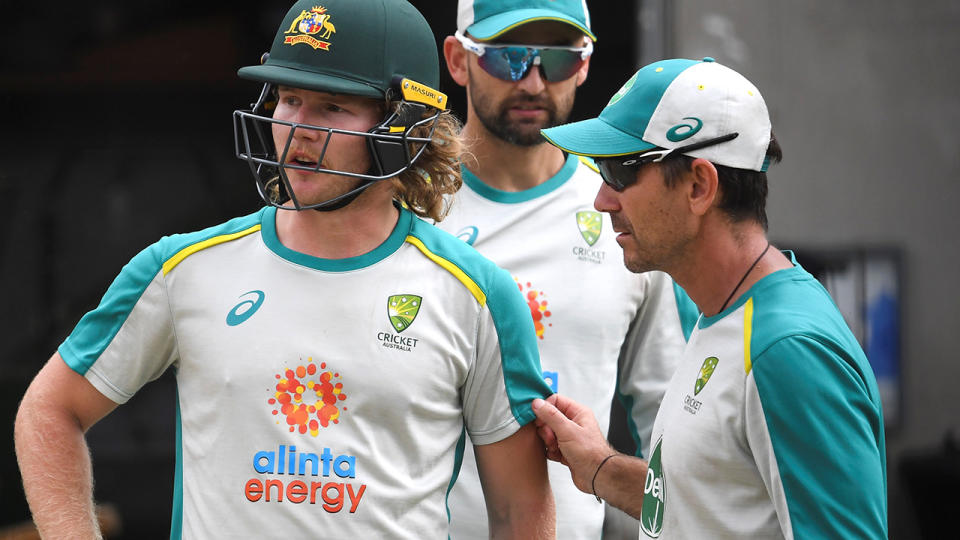
M 286 211 L 287 210 L 284 210 L 284 212 Z M 310 210 L 305 211 L 309 212 Z M 321 259 L 320 257 L 294 251 L 281 244 L 280 239 L 277 237 L 277 209 L 274 207 L 267 208 L 263 212 L 263 220 L 260 223 L 260 235 L 270 251 L 294 264 L 325 272 L 347 272 L 372 266 L 400 249 L 400 246 L 403 245 L 407 235 L 410 233 L 410 229 L 413 227 L 413 219 L 413 214 L 410 211 L 401 208 L 400 218 L 397 220 L 396 227 L 393 228 L 393 232 L 390 233 L 390 236 L 388 236 L 382 244 L 369 253 L 364 253 L 357 257 L 348 257 L 346 259 Z

